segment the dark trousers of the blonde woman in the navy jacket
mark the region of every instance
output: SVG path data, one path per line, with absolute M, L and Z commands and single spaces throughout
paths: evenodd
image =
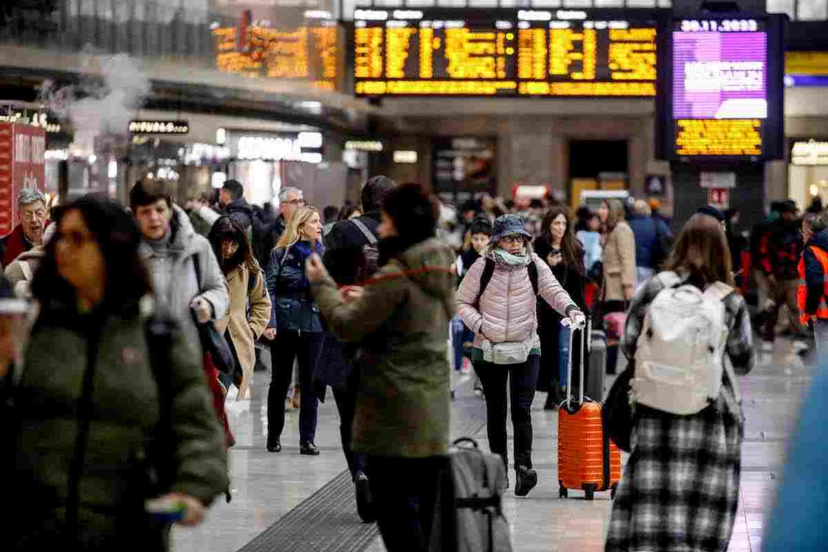
M 270 344 L 272 374 L 267 391 L 267 444 L 282 440 L 285 429 L 285 397 L 291 386 L 293 361 L 299 361 L 299 442 L 316 438 L 316 412 L 319 400 L 313 391 L 312 377 L 322 348 L 322 334 L 279 331 Z

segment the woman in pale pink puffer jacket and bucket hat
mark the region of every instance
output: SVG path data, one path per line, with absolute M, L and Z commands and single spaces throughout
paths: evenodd
M 531 240 L 522 218 L 514 214 L 499 217 L 494 221 L 492 245 L 472 265 L 457 291 L 460 319 L 475 334 L 472 362 L 486 395 L 489 449 L 500 454 L 507 467 L 506 383 L 510 382 L 518 497 L 525 497 L 537 485 L 537 472 L 532 469 L 532 399 L 541 364 L 541 342 L 537 337 L 537 298 L 529 276 L 530 264 L 537 273 L 537 295 L 568 317 L 570 323 L 581 325 L 585 321 L 549 266 L 532 252 Z M 493 263 L 493 271 L 480 294 L 487 263 Z M 551 356 L 556 353 L 550 352 Z

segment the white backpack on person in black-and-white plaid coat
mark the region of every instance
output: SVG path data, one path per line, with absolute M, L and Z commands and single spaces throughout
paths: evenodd
M 665 289 L 647 309 L 638 336 L 631 399 L 672 414 L 696 414 L 719 398 L 727 369 L 738 401 L 736 378 L 724 361 L 723 300 L 733 288 L 715 282 L 702 293 L 696 286 L 681 286 L 675 272 L 656 277 Z

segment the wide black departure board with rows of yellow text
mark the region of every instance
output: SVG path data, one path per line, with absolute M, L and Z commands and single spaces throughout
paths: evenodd
M 641 13 L 357 9 L 356 94 L 652 97 L 656 12 Z

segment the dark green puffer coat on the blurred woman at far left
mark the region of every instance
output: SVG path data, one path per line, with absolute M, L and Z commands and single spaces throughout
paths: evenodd
M 50 305 L 27 347 L 19 384 L 13 388 L 16 440 L 5 443 L 16 470 L 7 480 L 15 507 L 9 550 L 162 550 L 164 533 L 150 526 L 144 500 L 152 489 L 147 457 L 161 418 L 138 306 L 116 305 L 99 314 L 78 314 Z M 93 372 L 89 434 L 79 448 L 79 405 L 84 374 Z M 224 434 L 210 405 L 201 354 L 195 343 L 172 334 L 171 447 L 157 458 L 171 465 L 168 490 L 205 504 L 227 488 Z M 162 441 L 161 441 L 162 442 Z M 154 455 L 152 458 L 156 458 Z M 77 493 L 70 473 L 79 461 Z M 76 497 L 76 535 L 66 534 L 67 506 Z M 20 514 L 16 516 L 16 514 Z M 9 521 L 7 518 L 6 521 Z

